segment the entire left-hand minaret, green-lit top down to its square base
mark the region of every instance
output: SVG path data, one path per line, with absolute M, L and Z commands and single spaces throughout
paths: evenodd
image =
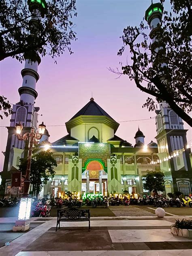
M 32 13 L 32 19 L 29 21 L 30 25 L 30 39 L 37 37 L 35 26 L 38 22 L 41 22 L 41 17 L 44 16 L 46 10 L 45 0 L 28 0 L 29 10 Z M 38 96 L 36 92 L 36 82 L 39 79 L 37 73 L 38 65 L 41 62 L 37 52 L 32 52 L 32 55 L 36 55 L 37 61 L 31 62 L 28 59 L 28 54 L 24 55 L 25 66 L 21 70 L 23 77 L 22 86 L 19 88 L 20 101 L 13 105 L 13 114 L 11 115 L 10 126 L 8 129 L 8 139 L 6 144 L 6 151 L 4 152 L 5 160 L 2 172 L 2 183 L 5 183 L 6 177 L 11 178 L 10 171 L 17 169 L 19 159 L 23 158 L 25 152 L 25 142 L 19 141 L 15 134 L 15 125 L 21 122 L 23 125 L 23 133 L 30 132 L 31 127 L 37 129 L 38 123 L 38 111 L 39 107 L 34 107 L 35 99 Z M 46 137 L 47 138 L 47 137 Z M 27 147 L 27 144 L 26 144 Z M 27 152 L 27 151 L 26 151 Z M 9 174 L 9 175 L 8 175 Z M 6 186 L 5 186 L 6 188 Z

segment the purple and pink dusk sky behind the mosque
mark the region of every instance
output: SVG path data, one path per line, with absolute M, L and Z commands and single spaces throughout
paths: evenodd
M 158 2 L 158 1 L 154 1 Z M 119 62 L 126 63 L 129 52 L 120 58 L 117 51 L 122 46 L 123 29 L 128 25 L 139 26 L 145 10 L 151 0 L 77 0 L 76 24 L 78 40 L 72 44 L 74 51 L 67 51 L 58 64 L 45 57 L 38 68 L 40 79 L 36 85 L 38 98 L 36 107 L 40 107 L 39 124 L 43 121 L 50 134 L 50 142 L 56 141 L 67 134 L 64 126 L 77 111 L 91 98 L 117 122 L 155 117 L 155 112 L 143 109 L 142 105 L 147 94 L 141 92 L 128 77 L 109 72 L 107 67 L 120 67 Z M 164 9 L 170 11 L 169 1 Z M 6 96 L 11 103 L 19 101 L 18 88 L 22 84 L 21 69 L 24 63 L 11 58 L 0 63 L 0 94 Z M 0 122 L 0 126 L 9 126 L 10 117 Z M 62 125 L 62 126 L 54 126 Z M 145 135 L 145 143 L 156 141 L 155 119 L 122 122 L 116 135 L 134 145 L 134 135 L 138 130 Z M 188 131 L 188 141 L 192 140 L 190 126 L 184 124 Z M 7 129 L 0 127 L 0 151 L 5 151 Z M 4 156 L 0 154 L 0 171 Z

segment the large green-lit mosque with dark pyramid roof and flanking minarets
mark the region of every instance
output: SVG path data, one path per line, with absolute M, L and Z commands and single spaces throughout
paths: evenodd
M 33 0 L 34 1 L 34 0 Z M 151 30 L 162 18 L 161 4 L 151 4 L 145 19 Z M 25 142 L 15 135 L 15 125 L 21 122 L 24 131 L 37 130 L 39 107 L 34 106 L 38 96 L 36 82 L 38 62 L 26 60 L 21 70 L 23 84 L 19 88 L 20 100 L 13 105 L 8 129 L 4 169 L 1 173 L 0 193 L 18 194 L 11 188 L 11 173 L 17 171 L 20 158 L 25 156 Z M 50 143 L 50 150 L 58 164 L 55 176 L 41 191 L 41 196 L 57 196 L 65 191 L 85 193 L 145 193 L 142 176 L 147 171 L 162 171 L 165 175 L 165 193 L 192 190 L 191 151 L 187 147 L 182 119 L 166 102 L 156 110 L 156 142 L 145 143 L 145 132 L 139 127 L 135 144 L 119 138 L 115 133 L 119 124 L 94 98 L 82 107 L 68 122 L 67 134 Z M 143 133 L 144 132 L 144 133 Z M 49 141 L 45 130 L 41 141 Z

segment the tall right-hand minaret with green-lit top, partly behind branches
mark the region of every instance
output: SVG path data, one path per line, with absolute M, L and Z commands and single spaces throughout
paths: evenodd
M 156 39 L 156 33 L 159 32 L 162 20 L 163 6 L 160 3 L 151 4 L 145 12 L 145 20 L 151 28 L 149 34 L 152 43 Z M 163 47 L 156 47 L 158 53 Z M 155 53 L 154 53 L 155 54 Z M 154 68 L 163 67 L 166 63 L 154 62 Z M 162 71 L 159 75 L 166 83 Z M 160 169 L 165 175 L 165 192 L 180 191 L 183 194 L 189 194 L 191 191 L 192 170 L 190 164 L 190 149 L 186 149 L 186 132 L 183 128 L 182 119 L 169 107 L 166 102 L 159 103 L 159 109 L 156 110 L 156 127 L 158 156 L 160 159 Z

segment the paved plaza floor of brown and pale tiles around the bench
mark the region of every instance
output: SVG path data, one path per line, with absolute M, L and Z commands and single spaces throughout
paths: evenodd
M 192 215 L 158 218 L 134 206 L 120 207 L 118 212 L 110 208 L 118 217 L 91 217 L 90 232 L 87 222 L 61 222 L 55 232 L 56 217 L 32 218 L 32 229 L 1 247 L 0 256 L 192 255 L 192 239 L 170 232 L 175 219 L 192 219 Z M 0 224 L 11 226 L 15 220 L 0 218 Z

